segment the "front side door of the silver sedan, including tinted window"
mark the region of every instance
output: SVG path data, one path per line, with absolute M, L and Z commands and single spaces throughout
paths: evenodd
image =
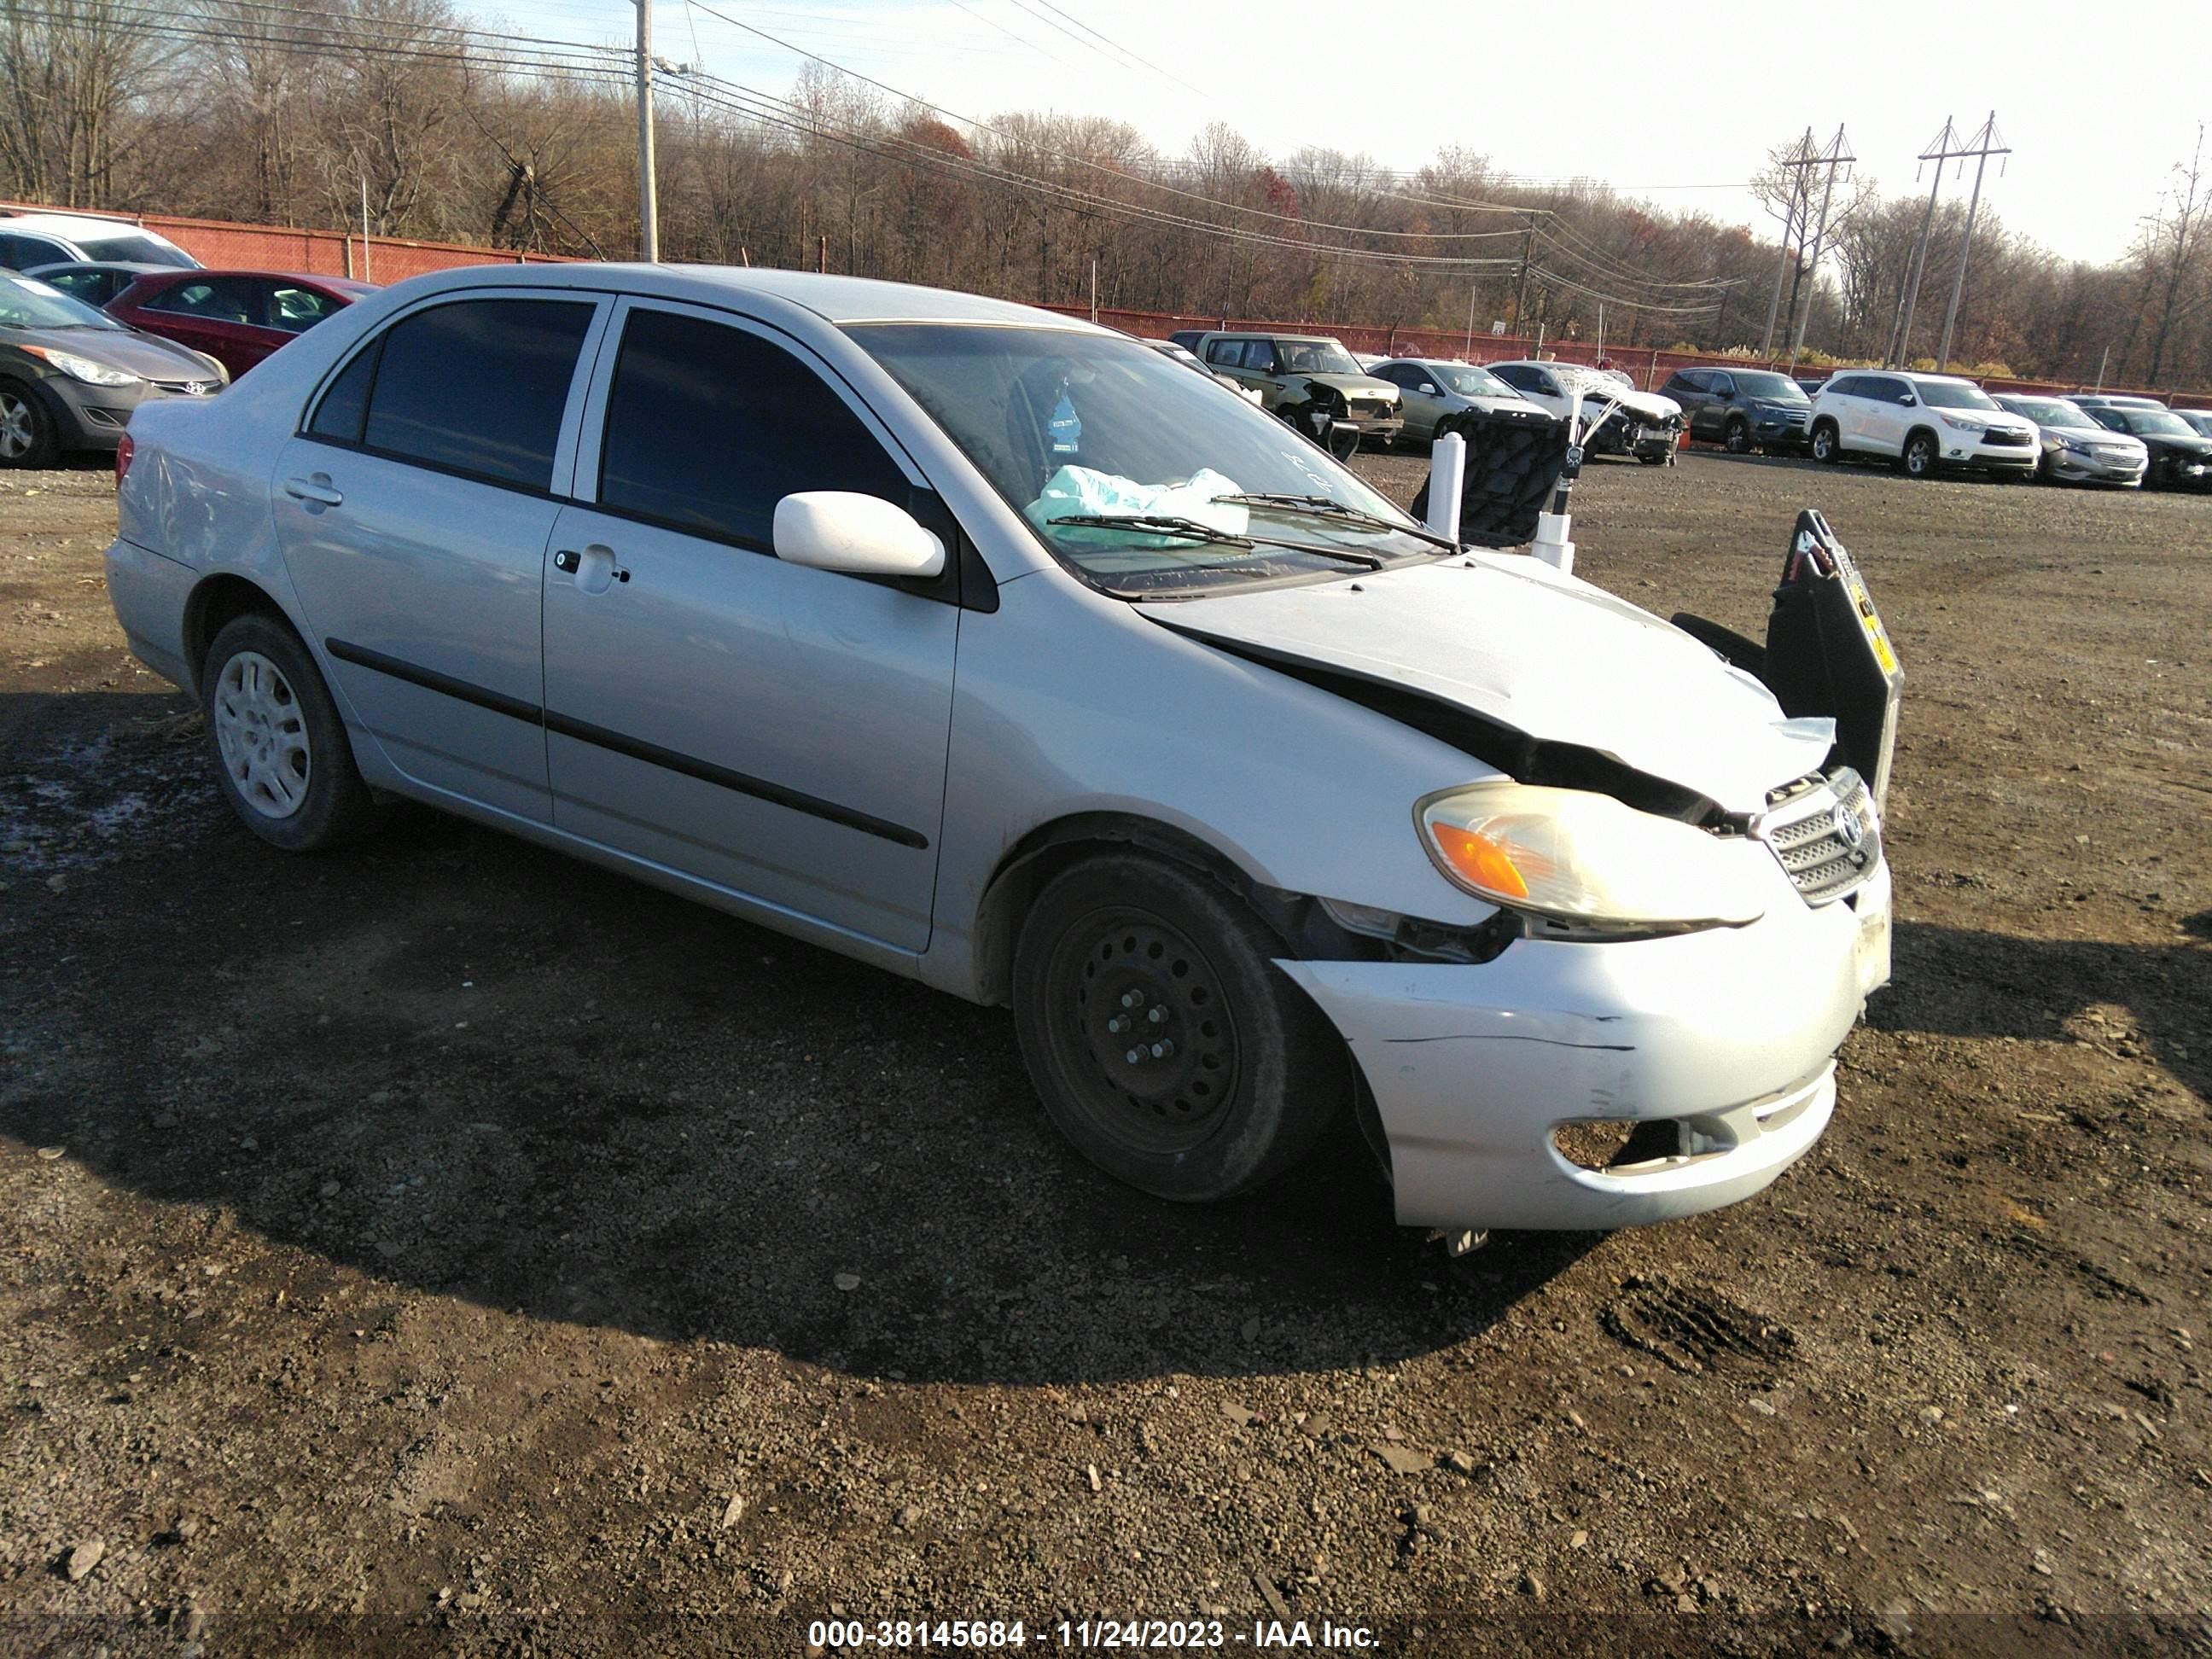
M 783 495 L 920 473 L 787 336 L 624 301 L 546 575 L 553 823 L 776 911 L 929 945 L 960 611 L 774 555 Z

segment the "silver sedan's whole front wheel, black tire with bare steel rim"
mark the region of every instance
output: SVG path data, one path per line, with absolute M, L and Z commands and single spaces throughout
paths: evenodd
M 1296 1164 L 1349 1097 L 1349 1060 L 1274 967 L 1281 953 L 1259 918 L 1179 865 L 1115 854 L 1055 876 L 1022 922 L 1013 1022 L 1060 1133 L 1177 1203 L 1248 1192 Z

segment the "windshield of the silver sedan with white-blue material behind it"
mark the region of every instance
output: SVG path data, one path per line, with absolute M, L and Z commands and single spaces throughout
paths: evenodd
M 1431 557 L 1413 522 L 1283 420 L 1137 341 L 1055 327 L 847 330 L 1064 564 L 1117 593 L 1340 573 Z M 1221 495 L 1323 495 L 1383 526 Z M 1217 538 L 1099 524 L 1175 518 Z M 1086 524 L 1055 524 L 1086 518 Z M 1405 531 L 1396 526 L 1405 526 Z M 1290 542 L 1292 546 L 1267 546 Z

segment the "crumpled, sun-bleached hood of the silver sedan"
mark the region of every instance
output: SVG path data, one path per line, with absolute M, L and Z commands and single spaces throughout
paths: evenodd
M 1405 686 L 1599 750 L 1730 812 L 1759 812 L 1767 790 L 1816 772 L 1836 741 L 1834 721 L 1783 717 L 1765 686 L 1681 628 L 1526 555 L 1139 611 L 1197 639 Z

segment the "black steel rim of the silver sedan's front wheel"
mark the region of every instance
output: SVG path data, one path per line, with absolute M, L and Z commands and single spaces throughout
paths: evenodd
M 1221 975 L 1181 929 L 1135 907 L 1086 916 L 1053 951 L 1046 998 L 1068 1104 L 1099 1135 L 1177 1155 L 1221 1128 L 1243 1042 Z

